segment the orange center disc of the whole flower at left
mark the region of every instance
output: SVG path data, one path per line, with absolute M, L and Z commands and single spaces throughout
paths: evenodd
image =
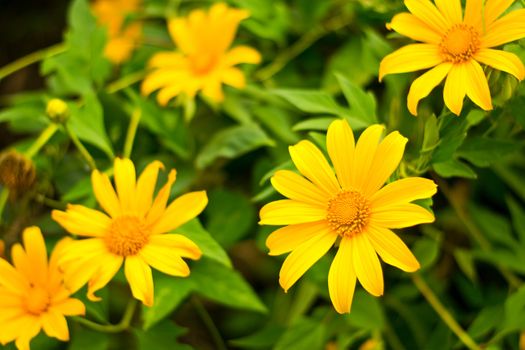
M 149 235 L 144 219 L 124 215 L 113 219 L 104 240 L 113 254 L 129 256 L 137 254 L 148 243 Z

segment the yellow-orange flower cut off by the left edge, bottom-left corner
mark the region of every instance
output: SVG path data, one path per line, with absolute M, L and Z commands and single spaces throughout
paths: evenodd
M 49 263 L 38 227 L 25 229 L 23 241 L 24 247 L 13 246 L 14 266 L 0 259 L 0 343 L 14 340 L 18 349 L 29 349 L 29 342 L 42 329 L 50 337 L 67 341 L 64 316 L 83 315 L 85 308 L 80 300 L 70 298 L 57 265 L 65 241 L 57 244 Z

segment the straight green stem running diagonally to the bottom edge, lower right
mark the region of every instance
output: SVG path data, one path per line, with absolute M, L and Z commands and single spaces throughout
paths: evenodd
M 434 294 L 432 289 L 428 286 L 423 278 L 417 273 L 412 274 L 412 281 L 416 285 L 417 289 L 423 294 L 425 299 L 428 301 L 430 306 L 436 311 L 436 313 L 441 317 L 441 320 L 450 328 L 452 332 L 461 340 L 465 346 L 471 350 L 481 350 L 481 348 L 476 344 L 476 342 L 470 337 L 470 335 L 465 332 L 463 328 L 459 325 L 456 319 L 452 314 L 447 310 L 447 308 L 441 304 L 437 296 Z

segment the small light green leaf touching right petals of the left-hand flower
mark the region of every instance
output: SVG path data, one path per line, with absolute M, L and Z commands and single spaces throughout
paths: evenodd
M 193 219 L 175 230 L 191 239 L 202 250 L 202 254 L 222 265 L 231 267 L 228 254 L 221 245 L 202 227 L 198 219 Z

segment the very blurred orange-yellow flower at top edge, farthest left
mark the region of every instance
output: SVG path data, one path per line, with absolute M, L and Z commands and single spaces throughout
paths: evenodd
M 142 24 L 126 22 L 126 17 L 136 13 L 140 3 L 140 0 L 96 0 L 92 5 L 98 22 L 108 30 L 104 54 L 115 64 L 126 61 L 141 38 Z

